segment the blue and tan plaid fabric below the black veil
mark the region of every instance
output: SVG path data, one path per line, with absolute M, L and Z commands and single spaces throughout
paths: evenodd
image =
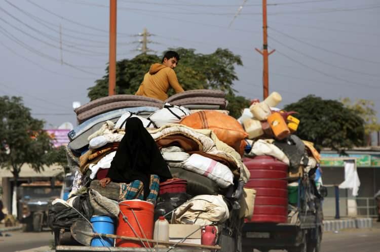
M 150 175 L 149 195 L 146 201 L 156 204 L 157 196 L 160 190 L 160 178 L 157 175 Z M 144 185 L 140 180 L 131 183 L 120 183 L 119 201 L 127 199 L 144 199 Z

